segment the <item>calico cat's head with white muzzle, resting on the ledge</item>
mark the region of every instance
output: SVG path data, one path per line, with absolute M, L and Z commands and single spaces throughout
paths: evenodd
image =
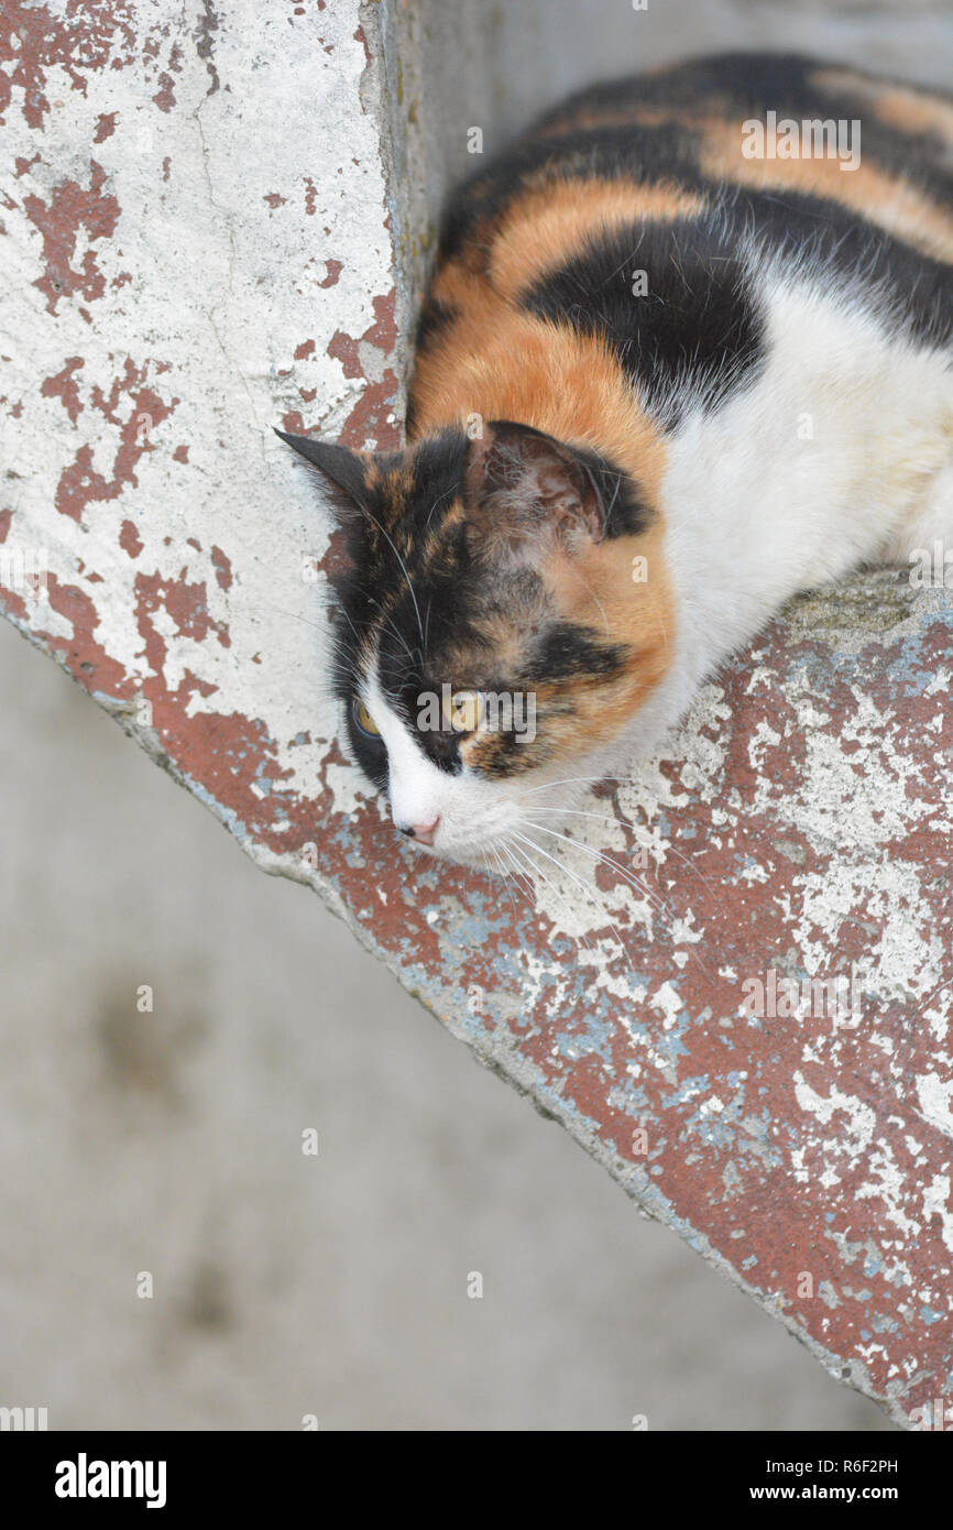
M 557 782 L 600 773 L 668 669 L 658 517 L 597 453 L 508 421 L 385 454 L 278 435 L 349 528 L 353 756 L 402 834 L 493 866 L 531 808 L 566 800 Z

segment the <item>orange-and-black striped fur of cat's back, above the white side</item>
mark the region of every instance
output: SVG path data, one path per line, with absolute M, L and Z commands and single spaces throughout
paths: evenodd
M 789 282 L 953 352 L 953 99 L 762 54 L 595 86 L 451 197 L 408 431 L 490 376 L 496 407 L 528 418 L 554 367 L 577 386 L 606 355 L 672 425 L 753 375 Z

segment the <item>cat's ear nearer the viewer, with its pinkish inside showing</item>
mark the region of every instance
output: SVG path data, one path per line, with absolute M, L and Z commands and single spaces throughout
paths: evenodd
M 584 459 L 552 436 L 494 419 L 470 448 L 467 497 L 486 536 L 511 555 L 568 552 L 606 536 L 606 506 Z

